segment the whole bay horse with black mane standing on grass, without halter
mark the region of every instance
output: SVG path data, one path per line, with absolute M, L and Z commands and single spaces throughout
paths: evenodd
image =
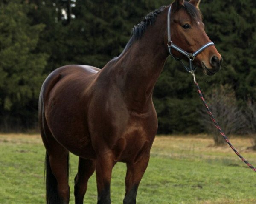
M 170 17 L 172 42 L 195 52 L 209 37 L 204 31 L 200 0 L 175 0 Z M 75 203 L 83 204 L 87 181 L 96 170 L 97 204 L 111 204 L 111 172 L 127 165 L 124 204 L 135 204 L 157 133 L 152 93 L 169 56 L 168 8 L 148 14 L 133 29 L 122 54 L 102 69 L 67 65 L 44 81 L 39 97 L 39 125 L 46 148 L 47 204 L 68 204 L 69 152 L 79 156 Z M 179 58 L 182 54 L 171 51 Z M 221 55 L 209 46 L 193 63 L 204 74 L 221 67 Z

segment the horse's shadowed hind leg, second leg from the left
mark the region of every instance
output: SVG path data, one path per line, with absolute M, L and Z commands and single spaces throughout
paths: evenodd
M 75 204 L 84 203 L 84 195 L 87 190 L 87 182 L 95 171 L 96 161 L 79 157 L 78 173 L 75 177 Z

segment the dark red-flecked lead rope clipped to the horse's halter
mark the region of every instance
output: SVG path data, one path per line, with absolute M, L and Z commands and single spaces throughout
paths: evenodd
M 203 94 L 202 94 L 202 92 L 201 92 L 201 89 L 200 89 L 200 87 L 198 86 L 198 83 L 197 83 L 196 80 L 195 80 L 195 73 L 194 73 L 194 71 L 190 71 L 190 73 L 192 74 L 192 76 L 193 76 L 193 78 L 194 78 L 194 83 L 195 83 L 195 87 L 196 87 L 196 89 L 197 89 L 197 91 L 198 91 L 198 94 L 199 94 L 201 100 L 203 101 L 204 106 L 205 106 L 205 108 L 207 109 L 207 112 L 208 112 L 209 116 L 210 116 L 211 119 L 212 119 L 212 122 L 214 123 L 214 125 L 216 126 L 216 128 L 218 129 L 218 131 L 221 133 L 221 136 L 225 139 L 225 141 L 227 142 L 227 144 L 228 144 L 228 145 L 231 147 L 231 149 L 236 153 L 236 155 L 239 156 L 240 159 L 241 159 L 242 161 L 244 161 L 244 163 L 245 163 L 248 167 L 250 167 L 254 172 L 256 172 L 256 168 L 253 167 L 253 165 L 250 164 L 248 161 L 246 161 L 246 160 L 244 159 L 244 157 L 242 157 L 242 156 L 239 154 L 239 152 L 236 150 L 236 148 L 233 147 L 233 145 L 229 142 L 229 139 L 227 138 L 227 136 L 225 135 L 225 133 L 223 132 L 223 130 L 221 129 L 221 127 L 218 125 L 218 122 L 215 120 L 214 116 L 212 115 L 212 112 L 211 112 L 210 109 L 209 109 L 209 106 L 207 105 L 207 102 L 206 102 L 205 99 L 204 99 L 204 96 L 203 96 Z

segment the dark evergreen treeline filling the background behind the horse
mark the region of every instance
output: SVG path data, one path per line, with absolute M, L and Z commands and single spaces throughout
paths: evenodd
M 0 131 L 36 127 L 38 94 L 51 71 L 67 64 L 102 68 L 122 52 L 135 24 L 150 11 L 171 3 L 169 0 L 0 2 Z M 211 93 L 229 87 L 235 105 L 239 110 L 242 108 L 244 118 L 249 118 L 245 115 L 250 115 L 250 111 L 246 110 L 248 107 L 255 110 L 256 101 L 256 1 L 202 0 L 200 6 L 207 34 L 224 63 L 213 77 L 198 70 L 198 83 L 209 100 Z M 154 103 L 159 133 L 206 130 L 200 119 L 202 104 L 191 75 L 171 58 L 157 82 Z M 227 104 L 225 107 L 229 108 Z M 250 122 L 253 124 L 253 119 Z M 241 133 L 246 133 L 246 128 L 241 129 Z

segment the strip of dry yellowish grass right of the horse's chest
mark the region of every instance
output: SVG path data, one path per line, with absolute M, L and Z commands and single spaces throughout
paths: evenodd
M 230 142 L 245 159 L 256 163 L 256 151 L 248 149 L 251 146 L 251 139 L 249 137 L 233 136 Z M 203 134 L 193 136 L 157 136 L 151 154 L 174 159 L 227 159 L 240 162 L 239 157 L 236 156 L 228 145 L 216 147 L 213 144 L 213 139 Z

